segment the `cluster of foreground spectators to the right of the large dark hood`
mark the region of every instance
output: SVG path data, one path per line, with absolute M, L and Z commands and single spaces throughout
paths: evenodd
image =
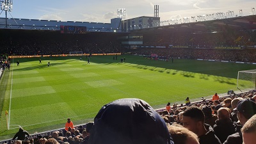
M 195 132 L 200 144 L 242 144 L 241 128 L 256 115 L 255 101 L 256 92 L 221 98 L 216 93 L 211 100 L 203 99 L 202 102 L 193 102 L 189 106 L 173 104 L 170 107 L 168 102 L 166 110 L 159 112 L 159 115 L 169 125 L 180 124 Z

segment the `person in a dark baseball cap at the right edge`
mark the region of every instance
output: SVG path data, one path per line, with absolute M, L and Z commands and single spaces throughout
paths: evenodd
M 250 99 L 243 99 L 237 103 L 237 118 L 243 126 L 247 120 L 256 114 L 256 103 Z M 240 130 L 228 136 L 223 144 L 242 144 L 243 136 Z

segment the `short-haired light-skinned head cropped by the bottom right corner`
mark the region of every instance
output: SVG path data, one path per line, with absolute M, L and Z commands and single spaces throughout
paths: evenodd
M 253 115 L 241 129 L 244 144 L 255 143 L 256 136 L 256 115 Z

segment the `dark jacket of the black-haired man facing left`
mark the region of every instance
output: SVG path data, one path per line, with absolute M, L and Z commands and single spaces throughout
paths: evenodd
M 206 134 L 198 136 L 200 144 L 221 144 L 218 137 L 214 134 L 211 125 L 205 124 Z

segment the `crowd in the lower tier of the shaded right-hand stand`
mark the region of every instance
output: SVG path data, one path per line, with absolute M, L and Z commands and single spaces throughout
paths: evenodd
M 256 62 L 256 49 L 139 48 L 134 53 L 184 59 Z

